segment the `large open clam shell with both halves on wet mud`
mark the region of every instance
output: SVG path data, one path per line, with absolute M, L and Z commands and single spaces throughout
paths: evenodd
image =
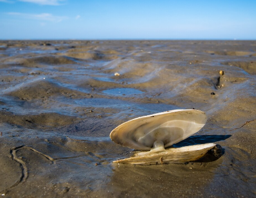
M 155 164 L 159 160 L 161 163 L 197 160 L 216 144 L 165 148 L 197 133 L 206 121 L 206 114 L 195 109 L 178 109 L 129 120 L 111 131 L 111 140 L 121 146 L 148 151 L 114 163 Z

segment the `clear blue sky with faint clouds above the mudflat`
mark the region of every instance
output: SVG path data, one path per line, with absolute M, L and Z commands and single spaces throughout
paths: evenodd
M 0 0 L 0 39 L 256 40 L 256 0 Z

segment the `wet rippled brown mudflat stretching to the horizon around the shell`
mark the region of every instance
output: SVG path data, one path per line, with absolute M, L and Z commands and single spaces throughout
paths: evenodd
M 0 193 L 256 197 L 255 74 L 256 41 L 0 41 Z M 111 163 L 133 152 L 112 129 L 191 108 L 208 122 L 175 146 L 216 142 L 219 159 Z

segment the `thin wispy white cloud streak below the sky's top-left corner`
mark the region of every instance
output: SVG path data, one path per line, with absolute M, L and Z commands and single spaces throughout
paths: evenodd
M 47 20 L 47 21 L 52 21 L 52 22 L 57 22 L 57 23 L 68 18 L 66 16 L 54 16 L 49 13 L 42 13 L 42 14 L 7 13 L 7 14 L 19 16 L 19 17 L 23 17 L 23 18 L 28 18 L 28 19 Z

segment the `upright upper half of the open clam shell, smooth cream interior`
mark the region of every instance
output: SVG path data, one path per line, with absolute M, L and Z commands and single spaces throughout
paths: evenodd
M 129 120 L 112 130 L 110 138 L 137 150 L 150 150 L 157 140 L 168 147 L 197 133 L 206 121 L 202 111 L 178 109 Z

